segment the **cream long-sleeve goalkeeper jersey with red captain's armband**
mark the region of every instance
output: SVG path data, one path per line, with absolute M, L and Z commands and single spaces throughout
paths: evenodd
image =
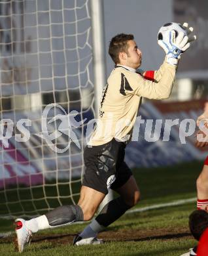
M 142 97 L 158 100 L 168 98 L 176 69 L 166 60 L 159 70 L 139 74 L 124 66 L 116 66 L 103 89 L 99 119 L 88 145 L 98 146 L 113 138 L 128 142 Z

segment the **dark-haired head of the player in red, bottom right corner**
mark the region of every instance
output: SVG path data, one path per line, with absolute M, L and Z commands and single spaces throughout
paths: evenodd
M 208 213 L 204 210 L 193 211 L 189 216 L 189 228 L 192 236 L 199 241 L 201 235 L 208 228 Z

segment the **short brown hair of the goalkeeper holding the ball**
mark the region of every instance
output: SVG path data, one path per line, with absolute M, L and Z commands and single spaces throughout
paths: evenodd
M 129 40 L 133 40 L 134 37 L 132 34 L 120 33 L 115 35 L 109 44 L 109 55 L 111 56 L 113 62 L 118 64 L 119 60 L 119 53 L 128 53 L 128 44 Z

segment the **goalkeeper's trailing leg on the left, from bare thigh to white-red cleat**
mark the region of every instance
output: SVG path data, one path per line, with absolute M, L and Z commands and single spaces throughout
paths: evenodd
M 22 252 L 24 245 L 29 242 L 31 234 L 39 230 L 92 219 L 104 197 L 105 194 L 87 186 L 82 186 L 80 200 L 77 205 L 61 205 L 45 215 L 30 219 L 29 221 L 16 219 L 16 242 L 18 250 Z

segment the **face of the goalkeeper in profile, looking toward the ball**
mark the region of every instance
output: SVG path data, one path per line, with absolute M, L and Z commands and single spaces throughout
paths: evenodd
M 126 66 L 131 68 L 139 68 L 141 66 L 142 53 L 137 47 L 134 40 L 128 41 L 128 53 L 126 58 Z

